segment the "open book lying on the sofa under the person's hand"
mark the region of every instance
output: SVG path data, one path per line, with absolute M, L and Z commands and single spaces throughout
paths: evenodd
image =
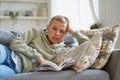
M 51 61 L 45 61 L 45 63 L 41 64 L 39 67 L 36 68 L 36 71 L 60 71 L 63 68 L 70 67 L 74 62 L 75 60 L 73 60 L 72 58 L 65 59 L 60 65 L 57 65 Z

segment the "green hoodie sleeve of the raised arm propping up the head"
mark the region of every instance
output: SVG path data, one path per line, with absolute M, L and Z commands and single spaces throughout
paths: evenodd
M 77 39 L 77 41 L 79 42 L 79 44 L 89 40 L 89 38 L 83 34 L 81 34 L 79 31 L 76 31 L 73 36 Z

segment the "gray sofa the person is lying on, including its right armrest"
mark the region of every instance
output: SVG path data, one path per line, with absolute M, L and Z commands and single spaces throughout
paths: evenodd
M 14 33 L 15 34 L 15 33 Z M 17 36 L 19 36 L 17 34 Z M 0 32 L 0 43 L 9 46 L 11 39 L 16 37 L 8 32 Z M 68 41 L 71 40 L 71 41 Z M 69 46 L 77 45 L 75 40 L 65 38 L 65 42 L 71 43 Z M 6 44 L 7 43 L 7 44 Z M 112 55 L 101 70 L 87 69 L 81 73 L 76 73 L 74 70 L 44 71 L 21 73 L 0 80 L 120 80 L 120 49 L 115 49 Z

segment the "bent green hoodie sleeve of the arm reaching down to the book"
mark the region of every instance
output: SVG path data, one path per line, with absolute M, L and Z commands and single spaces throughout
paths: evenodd
M 25 32 L 19 38 L 15 38 L 11 41 L 10 49 L 15 52 L 19 52 L 19 54 L 23 54 L 29 58 L 37 59 L 41 56 L 36 49 L 33 49 L 29 46 L 30 42 L 38 36 L 37 30 L 32 29 Z

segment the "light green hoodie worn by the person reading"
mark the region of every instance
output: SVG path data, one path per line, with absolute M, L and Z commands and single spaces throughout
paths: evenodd
M 79 43 L 86 41 L 88 38 L 76 32 L 74 35 Z M 37 59 L 43 56 L 46 60 L 51 60 L 56 54 L 63 53 L 67 46 L 62 41 L 59 44 L 51 45 L 47 39 L 46 29 L 27 31 L 19 38 L 11 41 L 10 48 L 16 52 L 22 59 L 22 72 L 33 71 L 39 63 Z

